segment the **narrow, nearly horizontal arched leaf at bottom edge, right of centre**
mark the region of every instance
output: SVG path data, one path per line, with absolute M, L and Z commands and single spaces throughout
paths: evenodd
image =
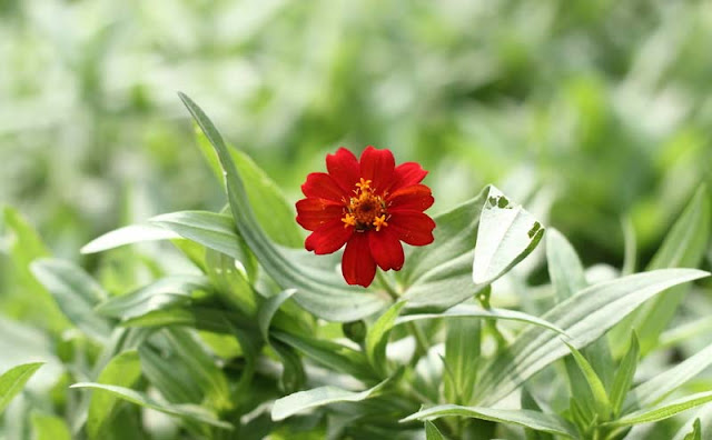
M 441 404 L 421 410 L 406 417 L 400 422 L 413 420 L 434 420 L 441 417 L 457 416 L 498 423 L 517 424 L 535 431 L 548 432 L 556 436 L 575 438 L 574 430 L 568 423 L 554 414 L 546 414 L 531 410 L 510 410 L 482 407 L 461 407 L 457 404 Z

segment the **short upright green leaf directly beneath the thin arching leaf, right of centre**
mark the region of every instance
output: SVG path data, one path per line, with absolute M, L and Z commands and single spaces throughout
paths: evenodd
M 459 318 L 446 322 L 445 398 L 449 402 L 468 404 L 477 379 L 481 356 L 479 320 Z

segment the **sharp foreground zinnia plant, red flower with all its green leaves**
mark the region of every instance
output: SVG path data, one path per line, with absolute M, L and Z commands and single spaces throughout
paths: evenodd
M 685 296 L 709 296 L 698 281 L 709 273 L 693 269 L 710 242 L 704 186 L 641 272 L 634 249 L 622 270 L 585 268 L 543 226 L 545 209 L 528 212 L 494 186 L 431 218 L 426 171 L 373 147 L 360 159 L 344 148 L 327 156 L 295 221 L 276 184 L 180 97 L 227 204 L 158 216 L 82 249 L 148 262 L 140 286 L 107 276 L 118 273 L 109 257 L 100 281 L 48 258 L 32 228 L 4 212 L 28 294 L 51 296 L 48 320 L 61 317 L 27 342 L 31 359 L 0 376 L 6 423 L 29 423 L 11 428 L 18 438 L 709 436 L 701 406 L 712 387 L 690 384 L 712 366 L 712 346 L 660 356 L 709 328 L 669 329 Z M 172 253 L 113 250 L 160 240 Z M 330 254 L 342 248 L 339 273 Z M 372 283 L 377 267 L 396 272 Z M 7 407 L 38 370 L 44 388 Z M 61 398 L 34 404 L 39 393 Z

